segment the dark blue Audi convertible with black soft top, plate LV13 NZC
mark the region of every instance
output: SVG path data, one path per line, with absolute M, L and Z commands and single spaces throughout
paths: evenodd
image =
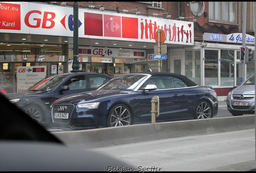
M 69 95 L 51 105 L 52 127 L 94 129 L 151 123 L 151 100 L 159 97 L 156 122 L 208 119 L 217 115 L 212 87 L 165 72 L 122 74 L 95 91 Z

